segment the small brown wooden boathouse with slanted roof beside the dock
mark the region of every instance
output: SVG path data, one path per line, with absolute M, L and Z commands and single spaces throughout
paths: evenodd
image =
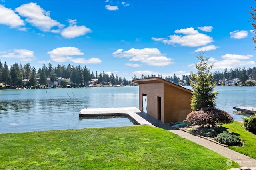
M 192 91 L 159 77 L 134 79 L 139 85 L 139 109 L 164 123 L 182 122 L 190 113 Z M 143 105 L 143 99 L 146 103 Z

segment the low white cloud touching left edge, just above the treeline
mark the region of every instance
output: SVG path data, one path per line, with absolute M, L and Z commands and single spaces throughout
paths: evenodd
M 20 61 L 33 61 L 36 59 L 34 52 L 27 49 L 14 49 L 13 52 L 1 55 L 1 57 L 16 58 L 20 59 Z

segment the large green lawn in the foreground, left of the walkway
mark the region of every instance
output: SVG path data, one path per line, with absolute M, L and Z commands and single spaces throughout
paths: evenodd
M 0 169 L 230 169 L 221 156 L 161 128 L 0 134 Z

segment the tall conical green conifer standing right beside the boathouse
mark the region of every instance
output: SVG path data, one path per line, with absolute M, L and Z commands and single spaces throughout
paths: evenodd
M 192 79 L 190 79 L 190 85 L 193 89 L 191 97 L 191 109 L 196 111 L 203 107 L 215 107 L 215 101 L 217 98 L 217 91 L 214 91 L 216 81 L 212 82 L 213 76 L 210 73 L 213 65 L 208 66 L 207 61 L 209 57 L 205 58 L 205 50 L 198 53 L 196 56 L 199 60 L 195 64 L 197 73 L 191 72 Z

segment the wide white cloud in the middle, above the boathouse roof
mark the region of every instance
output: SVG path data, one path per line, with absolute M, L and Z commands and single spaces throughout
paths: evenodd
M 164 56 L 164 54 L 162 54 L 157 48 L 131 48 L 128 51 L 118 49 L 113 53 L 113 55 L 114 57 L 131 58 L 129 61 L 140 61 L 151 66 L 166 66 L 174 63 L 171 62 L 173 59 Z

